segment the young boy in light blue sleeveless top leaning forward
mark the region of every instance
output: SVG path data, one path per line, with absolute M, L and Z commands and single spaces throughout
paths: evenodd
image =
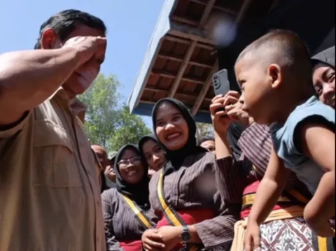
M 313 199 L 304 219 L 319 236 L 335 236 L 335 110 L 312 88 L 311 59 L 291 31 L 272 31 L 241 52 L 235 65 L 243 109 L 272 131 L 273 152 L 245 234 L 245 250 L 261 250 L 259 226 L 281 194 L 289 170 L 309 187 Z

